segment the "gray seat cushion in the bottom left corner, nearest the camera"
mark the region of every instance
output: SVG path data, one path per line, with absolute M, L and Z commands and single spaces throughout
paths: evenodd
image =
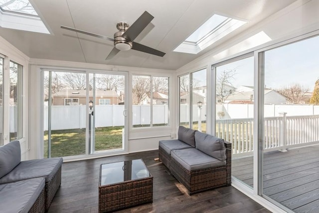
M 0 185 L 0 212 L 29 212 L 44 186 L 44 178 L 33 178 Z

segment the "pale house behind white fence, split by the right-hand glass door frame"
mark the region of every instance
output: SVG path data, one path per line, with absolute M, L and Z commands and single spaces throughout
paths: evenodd
M 265 89 L 264 92 L 265 104 L 286 104 L 286 98 L 272 89 Z M 230 94 L 225 103 L 228 104 L 253 104 L 254 102 L 254 89 L 252 87 L 241 86 L 234 93 Z

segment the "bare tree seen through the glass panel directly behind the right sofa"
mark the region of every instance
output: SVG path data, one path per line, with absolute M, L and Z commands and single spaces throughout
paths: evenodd
M 224 70 L 217 75 L 216 99 L 218 103 L 224 104 L 229 95 L 232 94 L 232 80 L 236 75 L 236 69 Z

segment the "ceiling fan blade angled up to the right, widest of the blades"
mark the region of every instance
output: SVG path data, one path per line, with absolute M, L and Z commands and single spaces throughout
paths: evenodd
M 129 41 L 133 41 L 143 31 L 143 29 L 152 21 L 153 15 L 145 11 L 122 35 Z

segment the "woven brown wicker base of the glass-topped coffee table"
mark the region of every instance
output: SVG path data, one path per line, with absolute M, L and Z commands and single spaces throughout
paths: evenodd
M 99 213 L 153 202 L 153 177 L 99 186 Z

